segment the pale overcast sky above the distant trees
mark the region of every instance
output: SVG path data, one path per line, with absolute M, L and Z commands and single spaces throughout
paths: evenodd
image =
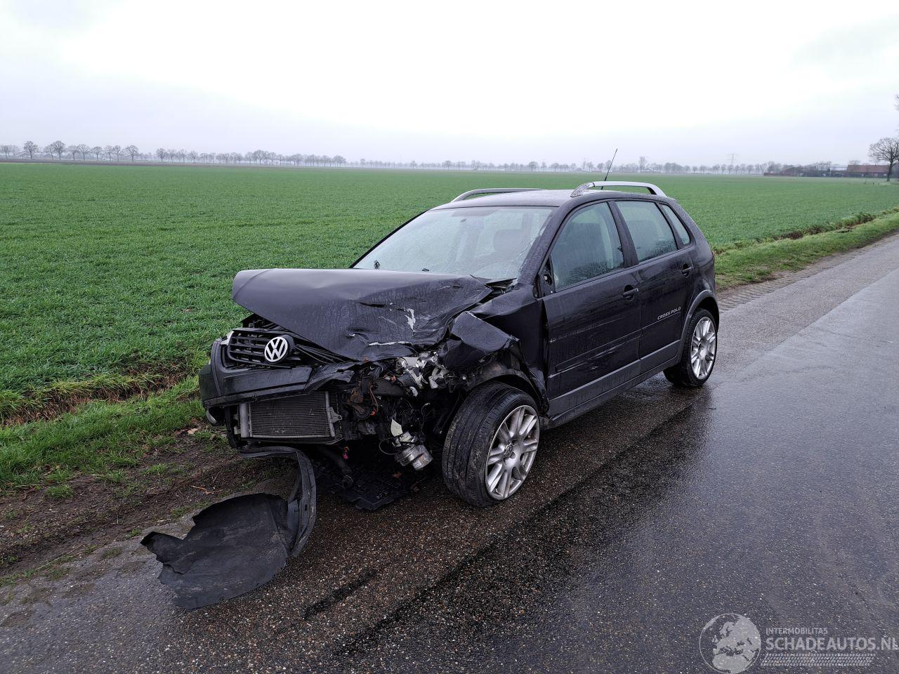
M 0 0 L 0 142 L 419 162 L 865 160 L 899 4 Z

